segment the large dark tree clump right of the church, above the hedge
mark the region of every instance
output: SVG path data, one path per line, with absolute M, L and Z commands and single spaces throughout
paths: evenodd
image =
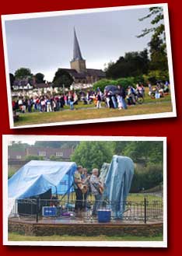
M 131 51 L 120 57 L 115 63 L 109 63 L 105 68 L 108 79 L 137 76 L 147 74 L 149 70 L 149 57 L 147 49 L 143 51 Z

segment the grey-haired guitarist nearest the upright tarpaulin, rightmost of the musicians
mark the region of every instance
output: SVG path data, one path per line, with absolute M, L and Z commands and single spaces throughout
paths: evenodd
M 93 205 L 93 216 L 96 216 L 97 210 L 100 208 L 100 203 L 102 199 L 101 189 L 103 188 L 103 186 L 98 176 L 99 176 L 99 170 L 94 168 L 92 175 L 89 179 L 91 191 L 95 197 L 95 202 Z

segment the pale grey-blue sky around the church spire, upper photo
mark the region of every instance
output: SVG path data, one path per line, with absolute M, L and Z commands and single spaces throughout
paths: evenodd
M 58 68 L 70 68 L 74 26 L 86 68 L 103 69 L 125 52 L 147 47 L 151 35 L 136 36 L 151 26 L 150 19 L 138 21 L 148 13 L 141 8 L 5 21 L 9 72 L 30 68 L 51 82 Z

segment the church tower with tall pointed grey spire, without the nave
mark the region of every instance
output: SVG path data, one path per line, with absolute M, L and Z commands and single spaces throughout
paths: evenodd
M 79 47 L 79 40 L 76 37 L 75 27 L 74 27 L 74 47 L 73 47 L 73 58 L 70 61 L 72 69 L 77 72 L 86 72 L 86 60 L 82 58 L 82 54 Z

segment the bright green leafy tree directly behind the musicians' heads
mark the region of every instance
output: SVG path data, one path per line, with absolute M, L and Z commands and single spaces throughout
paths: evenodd
M 110 163 L 113 156 L 111 142 L 80 142 L 71 156 L 77 165 L 86 167 L 89 172 L 93 168 L 102 167 L 103 163 Z

